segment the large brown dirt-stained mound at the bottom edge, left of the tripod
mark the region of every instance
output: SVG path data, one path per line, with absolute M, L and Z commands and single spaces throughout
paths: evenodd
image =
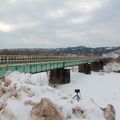
M 62 112 L 48 98 L 43 98 L 40 103 L 32 108 L 31 120 L 64 120 Z

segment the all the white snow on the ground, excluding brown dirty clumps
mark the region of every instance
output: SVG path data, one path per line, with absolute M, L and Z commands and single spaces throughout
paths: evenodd
M 15 116 L 15 120 L 30 120 L 32 105 L 26 105 L 26 101 L 40 102 L 43 97 L 51 99 L 57 104 L 65 117 L 65 120 L 105 120 L 103 111 L 99 107 L 112 104 L 116 109 L 116 120 L 120 120 L 120 73 L 112 72 L 116 64 L 108 64 L 105 72 L 92 72 L 91 75 L 71 70 L 71 82 L 52 88 L 48 85 L 47 73 L 25 74 L 17 71 L 6 75 L 6 79 L 12 81 L 17 90 L 21 87 L 20 97 L 8 98 L 7 94 L 0 97 L 0 102 Z M 120 69 L 117 64 L 117 70 Z M 29 91 L 25 90 L 29 88 Z M 74 90 L 80 89 L 81 99 L 78 102 L 73 99 Z M 93 102 L 94 101 L 94 102 Z M 78 117 L 72 109 L 80 106 L 85 114 Z M 0 120 L 14 120 L 4 116 L 0 112 Z

